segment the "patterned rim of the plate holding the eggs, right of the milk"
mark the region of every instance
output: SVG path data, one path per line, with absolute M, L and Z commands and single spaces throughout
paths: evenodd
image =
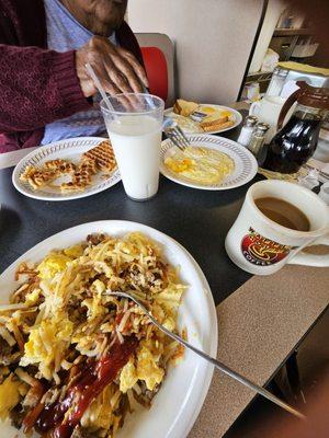
M 203 139 L 205 139 L 205 138 L 215 138 L 215 139 L 222 140 L 222 141 L 225 140 L 226 142 L 232 143 L 234 146 L 238 147 L 240 150 L 243 150 L 243 152 L 247 154 L 247 157 L 249 157 L 251 159 L 252 168 L 251 168 L 250 175 L 246 180 L 241 181 L 240 183 L 230 185 L 228 187 L 227 186 L 213 187 L 213 186 L 206 186 L 206 185 L 203 186 L 203 185 L 198 185 L 198 184 L 193 183 L 193 182 L 188 183 L 188 182 L 184 182 L 184 181 L 181 181 L 179 178 L 175 178 L 175 177 L 171 176 L 171 174 L 166 169 L 166 164 L 164 164 L 162 158 L 160 157 L 160 173 L 163 176 L 166 176 L 168 180 L 172 181 L 173 183 L 183 185 L 185 187 L 195 188 L 195 189 L 200 189 L 200 191 L 213 191 L 213 192 L 219 191 L 219 192 L 222 192 L 222 191 L 230 191 L 232 188 L 237 188 L 237 187 L 240 187 L 240 186 L 242 186 L 245 184 L 248 184 L 257 175 L 258 162 L 257 162 L 256 158 L 253 157 L 253 154 L 247 148 L 245 148 L 243 146 L 239 145 L 235 140 L 231 140 L 229 138 L 225 138 L 225 137 L 222 137 L 222 136 L 215 136 L 215 135 L 212 135 L 212 134 L 206 134 L 206 135 L 204 135 L 204 134 L 201 134 L 201 135 L 200 134 L 186 134 L 188 138 L 190 138 L 190 137 L 200 137 L 200 136 Z M 168 145 L 170 141 L 171 141 L 170 138 L 167 138 L 166 140 L 163 140 L 161 142 L 160 153 L 162 152 L 162 148 L 166 145 Z

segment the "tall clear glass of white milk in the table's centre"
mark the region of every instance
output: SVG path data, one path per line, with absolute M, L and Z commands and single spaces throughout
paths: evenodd
M 151 94 L 109 96 L 101 110 L 126 194 L 134 200 L 155 196 L 159 187 L 164 102 Z

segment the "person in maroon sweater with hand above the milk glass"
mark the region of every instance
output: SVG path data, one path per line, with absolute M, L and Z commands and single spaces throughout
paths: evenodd
M 43 0 L 0 0 L 0 153 L 38 146 L 45 125 L 92 107 L 90 62 L 110 94 L 148 87 L 127 0 L 60 0 L 92 32 L 77 50 L 47 49 Z M 118 45 L 109 36 L 115 31 Z

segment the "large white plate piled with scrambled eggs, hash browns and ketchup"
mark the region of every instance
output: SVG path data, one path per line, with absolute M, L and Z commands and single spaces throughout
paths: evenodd
M 213 366 L 217 318 L 204 274 L 173 239 L 127 221 L 61 231 L 0 276 L 1 436 L 183 438 Z M 166 412 L 166 415 L 163 415 Z

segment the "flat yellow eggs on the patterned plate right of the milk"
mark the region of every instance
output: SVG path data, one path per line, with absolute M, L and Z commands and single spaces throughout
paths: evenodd
M 226 153 L 214 149 L 189 147 L 164 160 L 174 173 L 200 184 L 219 184 L 235 170 L 235 162 Z

